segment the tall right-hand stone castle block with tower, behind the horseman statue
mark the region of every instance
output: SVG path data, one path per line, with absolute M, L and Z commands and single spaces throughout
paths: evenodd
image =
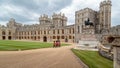
M 91 24 L 86 24 L 86 22 Z M 93 36 L 101 34 L 111 28 L 111 1 L 106 0 L 100 3 L 99 11 L 90 8 L 81 9 L 75 12 L 75 42 L 84 39 L 93 39 Z M 91 35 L 91 36 L 90 36 Z

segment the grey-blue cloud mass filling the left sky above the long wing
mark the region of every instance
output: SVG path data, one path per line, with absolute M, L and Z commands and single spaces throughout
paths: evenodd
M 1 0 L 0 1 L 0 24 L 7 23 L 10 18 L 17 22 L 27 24 L 39 23 L 42 14 L 52 15 L 71 4 L 72 0 Z M 29 23 L 28 23 L 29 24 Z

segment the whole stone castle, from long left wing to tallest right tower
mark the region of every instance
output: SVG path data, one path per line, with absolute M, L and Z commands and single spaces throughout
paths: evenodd
M 100 3 L 99 11 L 90 8 L 76 11 L 74 25 L 67 25 L 67 17 L 62 13 L 53 13 L 52 17 L 43 14 L 39 17 L 39 24 L 33 25 L 23 25 L 11 18 L 6 26 L 0 26 L 0 40 L 94 40 L 95 34 L 101 34 L 111 28 L 111 6 L 111 1 L 105 0 Z

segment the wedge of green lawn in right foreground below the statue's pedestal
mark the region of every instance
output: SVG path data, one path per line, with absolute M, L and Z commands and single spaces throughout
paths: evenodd
M 113 68 L 113 62 L 99 55 L 97 51 L 76 50 L 72 51 L 77 55 L 89 68 Z

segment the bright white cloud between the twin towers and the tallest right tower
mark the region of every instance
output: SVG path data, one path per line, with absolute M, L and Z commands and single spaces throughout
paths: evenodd
M 68 17 L 68 24 L 75 23 L 75 11 L 84 9 L 86 7 L 92 8 L 93 10 L 99 9 L 99 3 L 103 0 L 73 0 L 72 4 L 66 8 L 63 8 L 60 12 L 65 13 Z M 91 6 L 92 5 L 92 6 Z

